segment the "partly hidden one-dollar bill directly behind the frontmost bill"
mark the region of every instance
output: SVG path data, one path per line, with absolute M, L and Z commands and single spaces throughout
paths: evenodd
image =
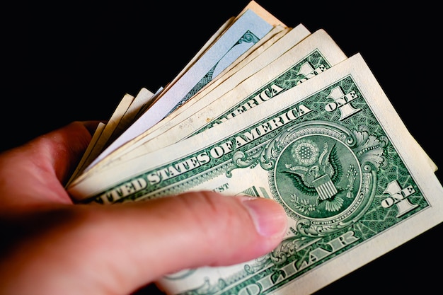
M 297 30 L 293 30 L 293 32 L 297 36 Z M 284 38 L 287 36 L 291 37 L 288 33 Z M 284 38 L 282 38 L 282 41 L 285 41 Z M 294 37 L 289 40 L 294 40 Z M 280 50 L 283 46 L 280 46 L 279 43 L 276 42 L 275 46 L 272 47 Z M 272 51 L 267 53 L 272 54 Z M 110 164 L 124 163 L 131 158 L 137 158 L 168 146 L 185 137 L 190 137 L 202 132 L 202 130 L 221 124 L 231 117 L 241 115 L 264 101 L 278 99 L 278 96 L 287 89 L 304 83 L 304 81 L 321 74 L 334 64 L 338 64 L 347 58 L 325 30 L 317 30 L 301 42 L 289 47 L 283 54 L 280 51 L 278 53 L 279 57 L 273 58 L 265 66 L 260 66 L 258 71 L 246 79 L 237 79 L 237 83 L 230 83 L 230 79 L 226 79 L 226 82 L 229 83 L 229 90 L 222 89 L 219 91 L 220 88 L 225 88 L 224 83 L 220 84 L 218 88 L 200 98 L 197 103 L 190 105 L 176 117 L 173 117 L 163 125 L 163 128 L 159 127 L 137 143 L 131 143 L 125 149 L 125 154 L 110 155 L 91 170 L 88 170 L 87 173 L 107 169 Z M 257 62 L 260 64 L 261 59 L 261 56 L 254 59 L 248 66 L 254 66 Z M 247 66 L 243 66 L 241 70 L 243 69 L 247 69 Z M 241 74 L 241 71 L 236 74 Z M 232 76 L 234 79 L 236 79 L 236 74 Z M 241 74 L 241 76 L 245 76 L 245 74 Z M 81 177 L 84 177 L 84 175 Z

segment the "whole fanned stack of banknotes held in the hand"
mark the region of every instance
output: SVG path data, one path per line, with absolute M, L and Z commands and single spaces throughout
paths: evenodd
M 441 223 L 436 170 L 361 54 L 251 1 L 173 81 L 122 98 L 67 190 L 103 205 L 192 190 L 275 199 L 289 227 L 271 253 L 158 284 L 310 294 Z

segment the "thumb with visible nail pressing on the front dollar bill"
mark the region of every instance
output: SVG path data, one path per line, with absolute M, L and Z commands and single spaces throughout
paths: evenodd
M 49 288 L 57 294 L 59 290 L 51 288 L 60 287 L 54 280 L 62 276 L 64 290 L 85 288 L 79 294 L 105 294 L 103 290 L 130 294 L 164 274 L 264 255 L 281 241 L 287 226 L 284 209 L 271 199 L 214 192 L 74 207 L 81 208 L 81 217 L 71 223 L 69 231 L 67 226 L 59 233 L 51 231 L 46 237 L 51 247 L 34 241 L 18 249 L 27 267 L 50 273 L 8 267 L 11 282 L 21 281 L 18 285 L 26 287 L 23 282 L 30 281 L 30 288 Z M 36 249 L 37 261 L 28 257 Z

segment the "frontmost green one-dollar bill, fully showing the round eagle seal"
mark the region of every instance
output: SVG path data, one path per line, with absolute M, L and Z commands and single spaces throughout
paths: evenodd
M 443 187 L 427 161 L 355 54 L 278 100 L 68 190 L 102 204 L 192 190 L 275 199 L 289 228 L 271 253 L 158 284 L 182 295 L 311 294 L 443 221 Z

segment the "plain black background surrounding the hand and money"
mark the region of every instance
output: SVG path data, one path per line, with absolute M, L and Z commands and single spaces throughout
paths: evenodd
M 4 7 L 1 150 L 74 120 L 107 120 L 125 93 L 135 96 L 142 87 L 154 92 L 165 86 L 248 1 L 150 3 L 20 2 Z M 290 27 L 303 23 L 311 33 L 325 29 L 348 57 L 360 52 L 406 127 L 437 166 L 443 166 L 436 5 L 258 4 Z M 442 179 L 441 171 L 437 176 Z M 318 294 L 435 293 L 441 284 L 442 233 L 439 225 Z

